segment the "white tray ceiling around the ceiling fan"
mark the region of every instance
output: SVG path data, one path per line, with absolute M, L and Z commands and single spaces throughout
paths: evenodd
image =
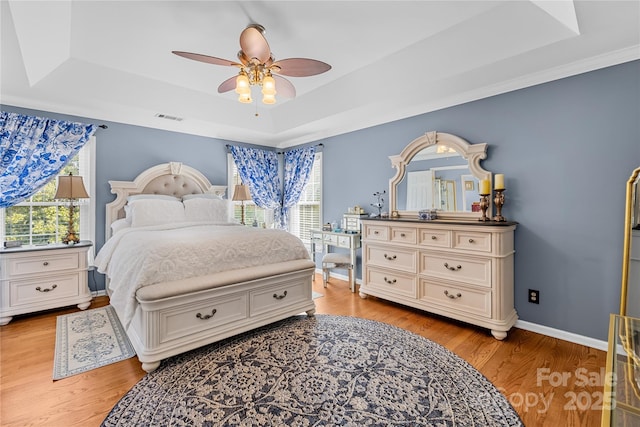
M 2 0 L 1 13 L 3 104 L 274 147 L 640 58 L 635 0 Z M 294 99 L 246 105 L 217 93 L 236 68 L 171 53 L 235 61 L 251 22 L 276 60 L 333 68 L 289 78 Z

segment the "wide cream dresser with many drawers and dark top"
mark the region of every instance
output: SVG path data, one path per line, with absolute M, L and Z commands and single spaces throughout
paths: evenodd
M 513 297 L 514 222 L 362 221 L 360 296 L 376 296 L 491 330 L 518 316 Z

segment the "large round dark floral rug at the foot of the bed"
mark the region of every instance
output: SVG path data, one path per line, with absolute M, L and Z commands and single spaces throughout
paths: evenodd
M 444 347 L 353 317 L 296 316 L 172 357 L 103 426 L 522 426 Z

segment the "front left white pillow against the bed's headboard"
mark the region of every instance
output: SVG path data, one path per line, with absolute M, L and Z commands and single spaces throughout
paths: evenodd
M 179 199 L 132 200 L 128 203 L 132 227 L 174 224 L 185 221 L 184 205 Z

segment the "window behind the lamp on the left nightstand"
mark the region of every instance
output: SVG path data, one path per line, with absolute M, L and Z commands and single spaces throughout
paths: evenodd
M 63 169 L 61 174 L 72 172 L 81 175 L 87 193 L 95 197 L 93 171 L 95 168 L 95 137 L 89 141 Z M 0 237 L 2 241 L 18 240 L 23 245 L 60 243 L 67 233 L 69 205 L 65 200 L 56 200 L 57 178 L 49 181 L 28 200 L 9 208 L 0 209 Z M 75 202 L 75 230 L 82 240 L 95 241 L 95 203 L 91 199 Z M 80 212 L 78 215 L 77 212 Z

